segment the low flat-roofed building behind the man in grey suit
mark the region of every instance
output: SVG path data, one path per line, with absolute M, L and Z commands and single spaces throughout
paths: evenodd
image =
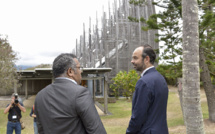
M 82 71 L 82 86 L 87 87 L 95 104 L 99 105 L 97 99 L 103 100 L 104 108 L 98 106 L 105 114 L 108 114 L 108 85 L 106 73 L 110 72 L 111 68 L 83 68 Z M 54 82 L 52 77 L 52 68 L 35 68 L 34 70 L 19 70 L 19 83 L 21 86 L 17 88 L 14 86 L 14 91 L 19 95 L 25 95 L 28 99 L 29 95 L 36 95 L 41 89 Z M 8 93 L 11 95 L 11 93 Z

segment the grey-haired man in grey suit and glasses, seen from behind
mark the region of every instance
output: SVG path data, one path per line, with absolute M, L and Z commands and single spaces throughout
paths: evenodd
M 81 67 L 73 54 L 53 62 L 55 82 L 36 96 L 39 134 L 106 134 L 87 88 L 80 86 Z

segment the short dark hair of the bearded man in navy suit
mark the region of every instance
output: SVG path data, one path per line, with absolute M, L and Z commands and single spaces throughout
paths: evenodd
M 149 44 L 141 45 L 141 47 L 143 47 L 143 53 L 142 53 L 143 60 L 146 56 L 149 56 L 150 63 L 153 65 L 156 59 L 155 51 Z

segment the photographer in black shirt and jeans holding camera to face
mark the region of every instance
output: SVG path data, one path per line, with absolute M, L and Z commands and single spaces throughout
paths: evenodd
M 7 134 L 12 134 L 15 130 L 16 134 L 21 134 L 21 124 L 20 119 L 22 118 L 22 112 L 26 112 L 25 107 L 22 102 L 19 101 L 19 96 L 17 93 L 11 95 L 11 103 L 7 105 L 4 110 L 4 114 L 8 113 L 8 123 L 7 123 Z

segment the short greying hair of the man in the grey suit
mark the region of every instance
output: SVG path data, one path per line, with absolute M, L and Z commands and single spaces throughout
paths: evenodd
M 57 56 L 53 62 L 52 71 L 54 78 L 64 74 L 69 68 L 76 69 L 76 63 L 74 58 L 77 58 L 74 54 L 63 53 Z

